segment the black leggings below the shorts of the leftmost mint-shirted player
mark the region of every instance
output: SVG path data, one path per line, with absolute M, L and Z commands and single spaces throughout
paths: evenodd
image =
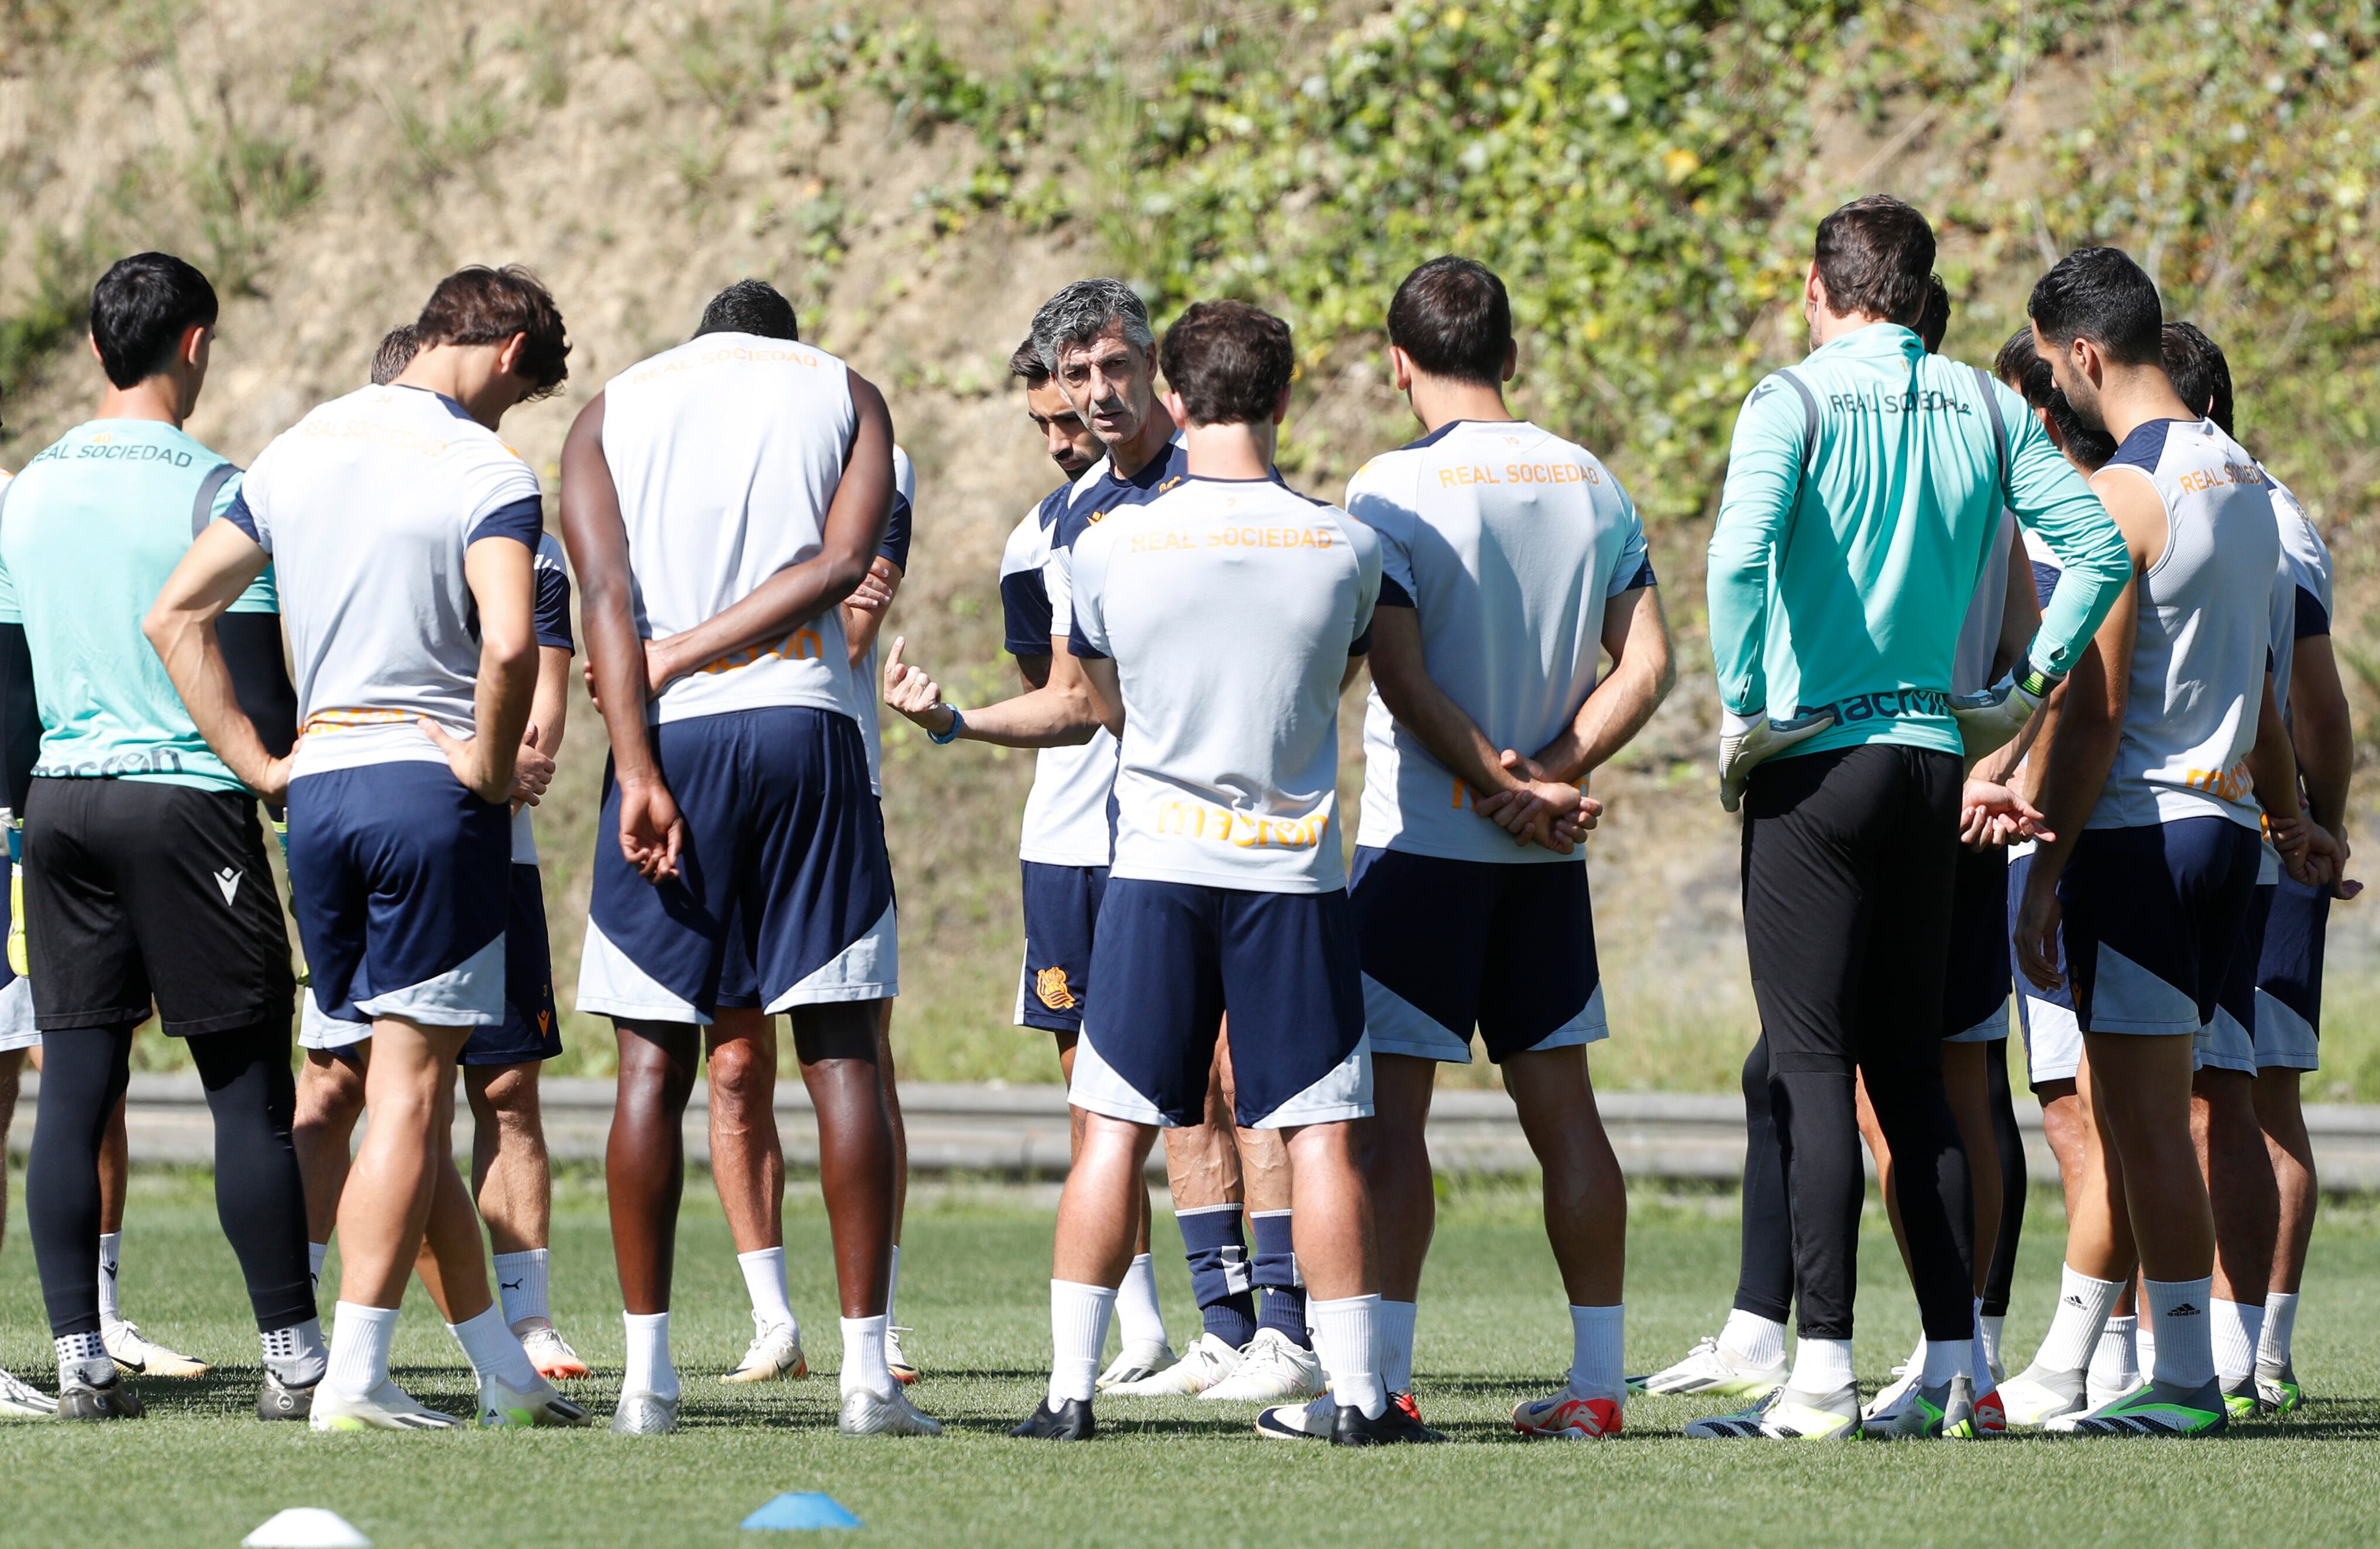
M 298 1085 L 288 1018 L 188 1040 L 214 1114 L 214 1211 L 259 1330 L 314 1316 L 305 1185 L 290 1147 Z M 40 1037 L 40 1111 L 24 1178 L 52 1335 L 100 1328 L 100 1142 L 131 1073 L 131 1028 Z

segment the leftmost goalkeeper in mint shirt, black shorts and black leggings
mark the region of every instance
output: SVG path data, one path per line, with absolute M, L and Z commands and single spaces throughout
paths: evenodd
M 26 966 L 43 1037 L 26 1214 L 69 1421 L 140 1413 L 102 1340 L 93 1242 L 100 1152 L 133 1028 L 152 1009 L 207 1085 L 217 1206 L 264 1344 L 257 1413 L 302 1416 L 324 1371 L 288 1140 L 288 935 L 255 811 L 257 795 L 278 790 L 207 750 L 140 635 L 193 531 L 236 500 L 238 469 L 181 431 L 207 381 L 214 316 L 207 278 L 164 252 L 100 276 L 100 412 L 43 450 L 0 512 L 0 597 L 24 623 L 40 707 L 24 797 Z M 286 747 L 274 590 L 248 590 L 255 578 L 224 597 L 240 614 L 221 631 L 233 666 L 219 690 L 250 740 Z

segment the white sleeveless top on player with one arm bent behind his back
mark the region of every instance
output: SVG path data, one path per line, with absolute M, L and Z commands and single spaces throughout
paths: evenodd
M 857 424 L 840 359 L 754 333 L 704 333 L 605 383 L 602 452 L 628 526 L 638 633 L 681 635 L 814 559 Z M 840 609 L 685 673 L 647 716 L 776 704 L 859 719 Z

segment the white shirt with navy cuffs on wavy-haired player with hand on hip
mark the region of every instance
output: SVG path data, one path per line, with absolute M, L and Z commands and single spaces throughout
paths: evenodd
M 414 716 L 471 735 L 462 557 L 483 538 L 536 552 L 543 490 L 521 454 L 450 397 L 364 388 L 276 435 L 224 516 L 274 557 L 307 733 L 293 773 L 445 764 Z

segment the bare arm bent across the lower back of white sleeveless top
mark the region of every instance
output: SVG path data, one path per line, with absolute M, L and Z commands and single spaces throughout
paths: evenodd
M 859 426 L 843 466 L 843 483 L 826 509 L 819 552 L 752 588 L 750 595 L 712 614 L 695 628 L 652 640 L 645 650 L 654 690 L 704 661 L 747 645 L 776 642 L 852 595 L 869 573 L 876 545 L 892 514 L 892 414 L 864 376 L 852 374 L 852 409 Z

